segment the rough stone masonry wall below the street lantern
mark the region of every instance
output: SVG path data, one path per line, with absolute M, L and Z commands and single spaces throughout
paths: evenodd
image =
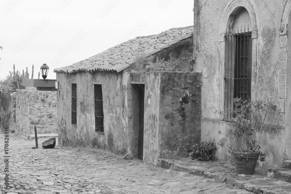
M 22 136 L 58 133 L 56 91 L 16 91 L 16 132 Z

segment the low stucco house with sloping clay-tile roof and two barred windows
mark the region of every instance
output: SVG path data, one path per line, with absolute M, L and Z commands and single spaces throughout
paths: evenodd
M 130 72 L 136 55 L 190 57 L 193 26 L 136 37 L 73 65 L 55 69 L 58 143 L 100 147 L 156 163 L 200 141 L 201 74 Z M 181 67 L 189 62 L 181 60 Z

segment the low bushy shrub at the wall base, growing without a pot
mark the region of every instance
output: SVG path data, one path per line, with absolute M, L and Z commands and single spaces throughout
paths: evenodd
M 201 142 L 192 145 L 189 156 L 192 160 L 197 159 L 199 161 L 214 160 L 216 147 L 211 142 Z

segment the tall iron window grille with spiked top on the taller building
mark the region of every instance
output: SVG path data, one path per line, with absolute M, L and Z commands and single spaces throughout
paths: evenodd
M 252 38 L 249 28 L 225 34 L 225 110 L 233 108 L 233 99 L 251 100 Z M 231 118 L 226 115 L 226 119 Z

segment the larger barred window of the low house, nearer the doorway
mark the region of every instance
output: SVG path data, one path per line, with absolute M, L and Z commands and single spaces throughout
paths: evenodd
M 95 101 L 95 131 L 104 134 L 104 114 L 102 85 L 94 84 L 94 101 Z

